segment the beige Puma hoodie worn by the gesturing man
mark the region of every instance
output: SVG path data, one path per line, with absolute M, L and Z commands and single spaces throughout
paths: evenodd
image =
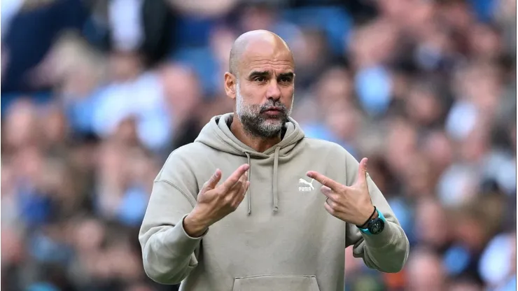
M 370 178 L 372 203 L 388 223 L 365 235 L 323 206 L 318 171 L 352 185 L 358 162 L 341 146 L 304 137 L 295 120 L 283 140 L 255 152 L 230 132 L 232 113 L 216 116 L 194 143 L 174 150 L 155 179 L 139 240 L 146 274 L 180 290 L 343 291 L 345 248 L 353 246 L 367 267 L 399 271 L 409 244 L 391 208 Z M 221 181 L 248 162 L 250 187 L 237 210 L 200 238 L 183 229 L 183 218 L 217 168 Z

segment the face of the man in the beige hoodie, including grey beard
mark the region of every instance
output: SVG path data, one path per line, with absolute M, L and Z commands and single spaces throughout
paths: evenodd
M 286 49 L 258 48 L 244 57 L 235 99 L 236 115 L 246 132 L 265 138 L 281 132 L 293 106 L 294 79 L 293 58 Z

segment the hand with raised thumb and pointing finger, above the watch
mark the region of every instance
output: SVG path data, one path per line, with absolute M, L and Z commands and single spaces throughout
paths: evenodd
M 358 179 L 350 187 L 337 183 L 316 171 L 307 172 L 307 176 L 323 185 L 321 192 L 328 197 L 324 204 L 328 213 L 353 225 L 363 225 L 370 218 L 374 206 L 367 187 L 366 158 L 361 160 L 358 166 Z

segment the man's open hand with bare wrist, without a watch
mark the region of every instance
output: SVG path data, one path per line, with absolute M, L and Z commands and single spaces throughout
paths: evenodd
M 189 236 L 202 236 L 211 225 L 237 209 L 250 185 L 246 174 L 249 167 L 248 164 L 239 166 L 219 186 L 221 170 L 216 170 L 200 190 L 195 208 L 183 220 L 183 229 Z

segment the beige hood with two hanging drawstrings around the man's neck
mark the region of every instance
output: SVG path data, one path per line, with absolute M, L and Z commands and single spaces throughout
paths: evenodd
M 228 121 L 232 120 L 232 118 L 234 118 L 234 113 L 214 116 L 214 118 L 211 118 L 209 123 L 203 127 L 195 142 L 204 143 L 211 148 L 228 152 L 232 155 L 246 157 L 248 159 L 248 165 L 250 165 L 248 169 L 248 180 L 251 180 L 253 175 L 251 159 L 265 159 L 274 155 L 274 162 L 272 164 L 274 169 L 272 177 L 272 208 L 273 211 L 276 212 L 279 210 L 279 197 L 277 193 L 279 156 L 288 155 L 290 151 L 295 148 L 297 143 L 304 138 L 304 132 L 302 132 L 302 129 L 293 118 L 288 118 L 288 122 L 286 122 L 285 125 L 286 132 L 281 142 L 265 150 L 265 152 L 257 152 L 239 141 L 239 139 L 232 134 L 228 127 Z M 252 208 L 251 195 L 251 187 L 248 187 L 248 215 L 251 214 Z

